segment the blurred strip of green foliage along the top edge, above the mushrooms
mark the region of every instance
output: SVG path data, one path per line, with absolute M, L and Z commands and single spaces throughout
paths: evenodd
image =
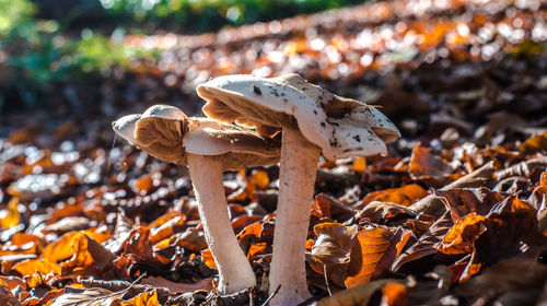
M 254 23 L 364 2 L 363 0 L 101 0 L 115 16 L 194 32 Z

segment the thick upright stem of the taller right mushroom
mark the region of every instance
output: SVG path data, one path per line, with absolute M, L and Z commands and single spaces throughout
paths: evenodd
M 281 287 L 270 305 L 298 305 L 311 296 L 305 273 L 305 242 L 318 158 L 317 145 L 298 130 L 283 129 L 270 294 Z

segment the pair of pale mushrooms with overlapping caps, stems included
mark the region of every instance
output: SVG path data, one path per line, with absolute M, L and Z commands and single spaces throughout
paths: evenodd
M 114 130 L 160 160 L 189 167 L 221 293 L 256 284 L 233 231 L 226 231 L 222 170 L 280 161 L 269 274 L 269 292 L 277 293 L 270 305 L 298 305 L 310 297 L 305 240 L 319 154 L 327 160 L 385 154 L 385 144 L 400 134 L 375 107 L 298 74 L 224 75 L 199 85 L 197 93 L 207 101 L 202 110 L 208 118 L 158 105 L 118 119 Z

